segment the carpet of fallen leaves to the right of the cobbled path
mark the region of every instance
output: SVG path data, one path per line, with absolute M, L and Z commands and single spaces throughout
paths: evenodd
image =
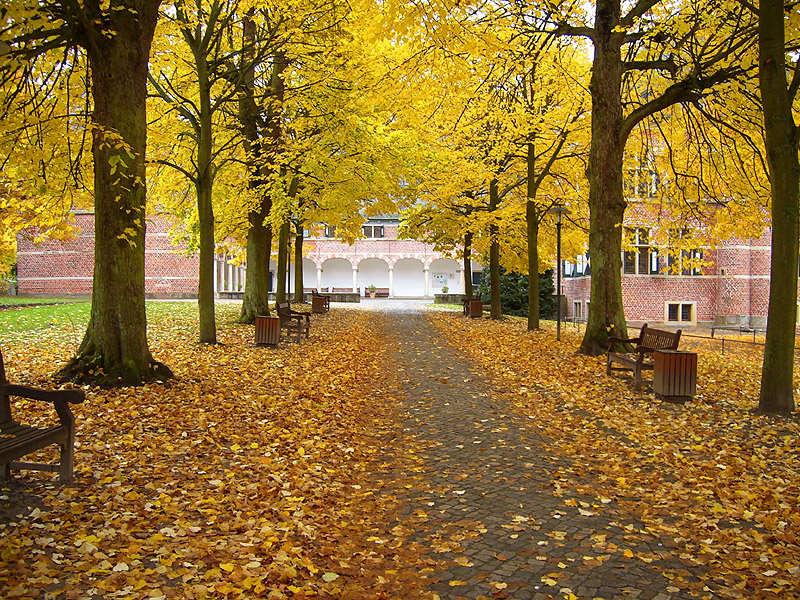
M 613 510 L 614 500 L 673 538 L 682 560 L 708 572 L 698 593 L 800 597 L 800 424 L 752 414 L 756 349 L 729 343 L 723 355 L 719 342 L 684 338 L 682 347 L 698 352 L 698 395 L 673 405 L 634 392 L 630 377 L 607 377 L 603 357 L 576 354 L 574 328 L 558 343 L 521 321 L 436 321 L 491 374 L 498 395 L 533 417 L 557 452 L 578 459 L 578 470 L 560 473 L 556 494 L 593 496 L 593 509 Z

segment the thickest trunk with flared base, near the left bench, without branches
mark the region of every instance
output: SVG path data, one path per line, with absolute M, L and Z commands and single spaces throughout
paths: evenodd
M 147 68 L 159 2 L 113 15 L 115 35 L 87 31 L 94 101 L 95 255 L 92 309 L 61 380 L 140 385 L 172 377 L 147 344 L 144 241 Z

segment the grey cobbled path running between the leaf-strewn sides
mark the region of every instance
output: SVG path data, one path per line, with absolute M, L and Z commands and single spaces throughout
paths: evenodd
M 374 309 L 395 341 L 389 360 L 403 387 L 405 432 L 424 448 L 416 469 L 388 475 L 404 500 L 399 523 L 414 522 L 411 539 L 447 565 L 431 574 L 430 591 L 443 600 L 695 597 L 685 588 L 696 578 L 675 549 L 633 517 L 595 512 L 597 499 L 554 495 L 566 459 L 491 393 L 424 309 Z

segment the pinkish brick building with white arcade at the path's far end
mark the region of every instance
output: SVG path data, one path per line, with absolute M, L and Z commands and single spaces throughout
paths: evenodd
M 17 289 L 22 295 L 89 295 L 94 262 L 94 215 L 74 215 L 72 240 L 33 244 L 17 238 Z M 398 217 L 378 217 L 364 225 L 363 240 L 352 246 L 335 239 L 330 228 L 320 228 L 305 242 L 303 283 L 306 288 L 348 288 L 364 295 L 370 285 L 388 288 L 390 297 L 432 297 L 447 287 L 463 291 L 461 265 L 429 244 L 397 239 Z M 197 296 L 199 261 L 185 247 L 173 245 L 167 222 L 150 218 L 145 240 L 145 293 L 150 298 Z M 476 265 L 477 271 L 480 266 Z M 272 262 L 272 284 L 277 265 Z M 294 269 L 290 269 L 294 277 Z M 217 256 L 215 290 L 237 296 L 243 289 L 246 265 Z M 290 288 L 293 289 L 293 281 Z

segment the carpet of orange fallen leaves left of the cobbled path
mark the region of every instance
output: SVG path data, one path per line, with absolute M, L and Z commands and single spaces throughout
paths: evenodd
M 0 521 L 4 597 L 430 597 L 408 532 L 386 529 L 395 500 L 373 491 L 396 404 L 380 335 L 332 316 L 277 350 L 251 326 L 203 347 L 191 314 L 151 323 L 177 380 L 76 407 L 76 483 L 26 475 L 47 509 Z M 4 346 L 10 379 L 42 381 L 71 354 L 38 342 Z

